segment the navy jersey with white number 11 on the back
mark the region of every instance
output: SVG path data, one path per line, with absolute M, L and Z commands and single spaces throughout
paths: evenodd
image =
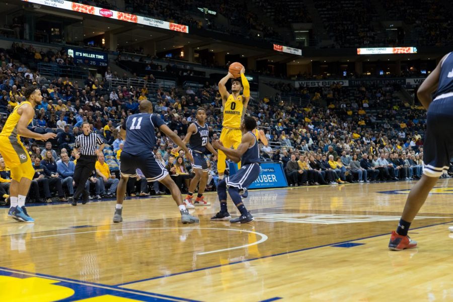
M 126 141 L 123 152 L 138 155 L 152 152 L 156 146 L 156 128 L 165 125 L 157 114 L 138 113 L 130 115 L 123 123 L 126 130 Z

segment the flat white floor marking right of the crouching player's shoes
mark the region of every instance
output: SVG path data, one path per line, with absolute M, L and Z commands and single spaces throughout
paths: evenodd
M 385 215 L 341 215 L 341 214 L 310 214 L 310 213 L 259 213 L 253 214 L 256 221 L 263 222 L 288 222 L 288 223 L 315 223 L 315 224 L 341 224 L 376 221 L 398 221 L 401 216 Z M 417 216 L 415 219 L 427 218 L 453 218 L 438 216 Z

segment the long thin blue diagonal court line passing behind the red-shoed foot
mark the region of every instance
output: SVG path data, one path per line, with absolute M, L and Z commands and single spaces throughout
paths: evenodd
M 411 230 L 424 229 L 424 228 L 429 228 L 430 226 L 441 225 L 441 224 L 447 224 L 447 223 L 452 223 L 452 222 L 453 222 L 453 221 L 447 221 L 447 222 L 440 222 L 440 223 L 435 223 L 435 224 L 429 224 L 429 225 L 425 225 L 425 226 L 419 226 L 418 228 L 414 228 L 414 229 L 411 229 Z M 198 271 L 202 271 L 202 270 L 217 268 L 217 267 L 221 267 L 221 266 L 239 264 L 239 263 L 244 263 L 244 262 L 249 262 L 249 261 L 254 261 L 254 260 L 259 260 L 259 259 L 265 259 L 265 258 L 276 257 L 276 256 L 281 256 L 281 255 L 293 254 L 293 253 L 297 253 L 297 252 L 309 251 L 309 250 L 313 250 L 313 249 L 319 249 L 319 248 L 329 247 L 329 246 L 332 246 L 332 245 L 337 245 L 337 244 L 342 244 L 342 243 L 348 243 L 348 242 L 352 242 L 352 241 L 359 241 L 359 240 L 365 240 L 365 239 L 370 239 L 370 238 L 375 238 L 375 237 L 380 237 L 380 236 L 387 236 L 387 235 L 390 235 L 390 234 L 391 234 L 391 233 L 373 235 L 373 236 L 362 237 L 362 238 L 358 238 L 358 239 L 352 239 L 352 240 L 347 240 L 347 241 L 329 243 L 329 244 L 320 245 L 320 246 L 311 247 L 311 248 L 304 248 L 304 249 L 299 249 L 299 250 L 294 250 L 294 251 L 288 251 L 288 252 L 282 252 L 282 253 L 278 253 L 278 254 L 272 254 L 272 255 L 263 256 L 263 257 L 256 257 L 256 258 L 252 258 L 252 259 L 246 259 L 246 260 L 243 260 L 243 261 L 235 261 L 235 262 L 231 262 L 231 263 L 227 263 L 227 264 L 217 264 L 217 265 L 213 265 L 213 266 L 208 266 L 208 267 L 204 267 L 204 268 L 198 268 L 198 269 L 194 269 L 194 270 L 188 270 L 188 271 L 179 272 L 179 273 L 173 273 L 173 274 L 168 274 L 168 275 L 163 275 L 163 276 L 157 276 L 157 277 L 151 277 L 151 278 L 141 279 L 141 280 L 137 280 L 137 281 L 130 281 L 130 282 L 125 282 L 125 283 L 119 283 L 119 284 L 115 284 L 114 286 L 124 286 L 124 285 L 128 285 L 128 284 L 139 283 L 139 282 L 144 282 L 144 281 L 149 281 L 149 280 L 167 278 L 167 277 L 171 277 L 171 276 L 177 276 L 177 275 L 182 275 L 182 274 L 187 274 L 187 273 L 193 273 L 193 272 L 198 272 Z M 125 288 L 126 288 L 126 287 L 125 287 Z

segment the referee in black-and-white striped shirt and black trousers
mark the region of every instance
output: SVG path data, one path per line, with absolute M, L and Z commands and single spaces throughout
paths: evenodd
M 75 139 L 74 145 L 75 158 L 78 160 L 74 170 L 74 182 L 77 189 L 72 196 L 72 205 L 77 205 L 77 199 L 81 194 L 83 194 L 82 204 L 87 203 L 90 193 L 85 190 L 85 183 L 95 171 L 98 153 L 104 149 L 104 140 L 90 130 L 88 122 L 82 123 L 82 130 L 83 133 Z M 98 144 L 100 145 L 99 150 L 96 149 Z

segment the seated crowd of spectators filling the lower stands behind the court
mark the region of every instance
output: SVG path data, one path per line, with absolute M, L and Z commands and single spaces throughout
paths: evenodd
M 23 97 L 21 88 L 30 84 L 19 77 L 28 70 L 22 63 L 2 57 L 0 70 L 0 113 L 2 121 Z M 7 72 L 6 72 L 7 71 Z M 30 71 L 32 74 L 35 72 Z M 5 74 L 8 76 L 5 77 Z M 100 80 L 100 79 L 99 79 Z M 46 143 L 24 139 L 36 174 L 28 201 L 65 201 L 74 190 L 73 171 L 77 157 L 71 153 L 80 125 L 88 121 L 93 131 L 106 143 L 98 158 L 96 171 L 85 184 L 91 198 L 115 196 L 119 179 L 119 159 L 124 141 L 118 136 L 124 119 L 138 110 L 138 102 L 148 99 L 154 112 L 181 138 L 195 120 L 195 109 L 203 106 L 211 139 L 218 139 L 221 129 L 221 98 L 215 83 L 200 89 L 148 90 L 116 87 L 107 90 L 98 79 L 84 83 L 71 79 L 49 79 L 40 86 L 44 96 L 36 108 L 29 128 L 35 132 L 52 131 L 57 138 Z M 9 82 L 19 85 L 14 87 Z M 285 91 L 280 84 L 278 89 Z M 357 88 L 332 85 L 300 89 L 309 102 L 306 106 L 274 102 L 269 98 L 251 100 L 247 114 L 256 117 L 266 132 L 268 146 L 261 147 L 263 161 L 283 163 L 290 185 L 334 184 L 377 180 L 410 180 L 420 177 L 425 111 L 420 106 L 403 103 L 393 96 L 393 87 L 362 86 Z M 12 97 L 10 97 L 12 96 Z M 2 111 L 3 110 L 3 111 Z M 184 152 L 172 154 L 173 142 L 157 133 L 156 157 L 165 165 L 182 191 L 187 190 L 193 174 Z M 217 184 L 217 159 L 206 155 L 209 166 L 209 190 Z M 128 185 L 130 196 L 163 194 L 159 183 L 147 184 L 142 174 Z M 8 195 L 8 167 L 0 160 L 0 194 Z M 6 184 L 4 184 L 6 183 Z M 55 196 L 53 196 L 54 192 Z

